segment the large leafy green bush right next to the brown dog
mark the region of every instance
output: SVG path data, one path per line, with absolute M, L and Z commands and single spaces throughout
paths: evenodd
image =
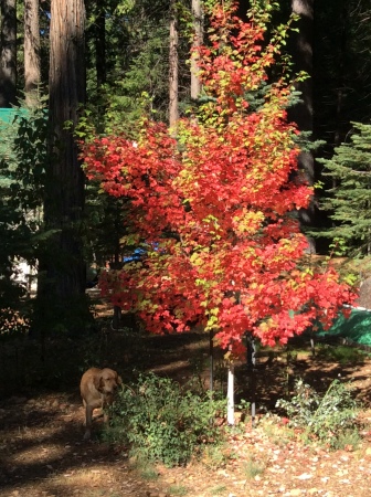
M 225 408 L 208 393 L 192 393 L 168 378 L 139 376 L 124 388 L 112 408 L 105 438 L 128 444 L 130 454 L 168 466 L 186 464 L 206 444 L 221 440 L 212 420 Z

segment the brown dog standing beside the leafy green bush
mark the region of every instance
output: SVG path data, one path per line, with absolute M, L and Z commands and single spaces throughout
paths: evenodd
M 85 440 L 91 437 L 94 409 L 105 409 L 107 405 L 110 405 L 119 384 L 123 384 L 123 380 L 113 369 L 91 368 L 84 372 L 80 383 L 80 391 L 85 408 Z M 104 413 L 104 421 L 108 421 L 107 413 Z

